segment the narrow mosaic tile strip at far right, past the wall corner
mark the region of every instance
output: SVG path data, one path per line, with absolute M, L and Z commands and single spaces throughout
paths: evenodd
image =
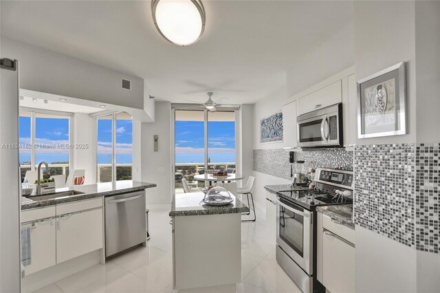
M 417 250 L 439 253 L 440 144 L 417 144 L 415 187 L 415 244 Z

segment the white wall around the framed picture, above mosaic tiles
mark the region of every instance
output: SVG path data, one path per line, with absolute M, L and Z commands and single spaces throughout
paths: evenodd
M 414 1 L 355 1 L 356 79 L 406 61 L 408 134 L 358 139 L 357 144 L 415 142 L 415 3 Z

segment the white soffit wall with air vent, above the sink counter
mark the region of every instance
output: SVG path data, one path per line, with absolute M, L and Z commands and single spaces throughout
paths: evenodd
M 21 88 L 144 109 L 144 80 L 1 36 L 1 53 L 21 63 Z M 132 89 L 120 88 L 121 78 Z

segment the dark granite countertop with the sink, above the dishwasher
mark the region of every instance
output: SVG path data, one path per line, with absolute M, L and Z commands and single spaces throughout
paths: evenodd
M 21 204 L 21 210 L 41 208 L 43 206 L 53 206 L 54 204 L 64 204 L 66 202 L 76 202 L 78 200 L 91 199 L 94 197 L 107 197 L 119 193 L 129 193 L 131 191 L 141 191 L 145 188 L 152 188 L 155 186 L 157 186 L 155 183 L 123 180 L 118 181 L 115 184 L 112 184 L 112 182 L 104 182 L 89 185 L 76 185 L 74 187 L 56 188 L 56 193 L 61 193 L 64 191 L 79 191 L 82 194 L 69 196 L 60 195 L 60 197 L 26 202 Z M 41 195 L 39 195 L 39 197 L 40 196 Z M 29 198 L 32 199 L 32 196 Z

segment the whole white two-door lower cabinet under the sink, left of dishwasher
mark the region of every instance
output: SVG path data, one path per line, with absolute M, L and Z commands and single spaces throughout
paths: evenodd
M 103 248 L 102 198 L 23 210 L 22 228 L 30 228 L 32 274 Z

